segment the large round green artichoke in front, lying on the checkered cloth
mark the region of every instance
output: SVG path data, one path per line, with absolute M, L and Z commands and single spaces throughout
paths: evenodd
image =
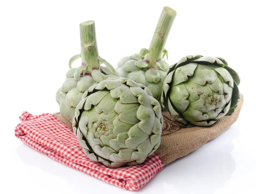
M 144 162 L 159 147 L 162 127 L 159 102 L 147 87 L 127 78 L 90 87 L 73 119 L 84 153 L 111 168 Z

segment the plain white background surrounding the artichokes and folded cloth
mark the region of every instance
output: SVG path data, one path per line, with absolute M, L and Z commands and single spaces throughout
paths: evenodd
M 19 115 L 58 112 L 55 92 L 80 52 L 79 23 L 96 21 L 99 54 L 120 58 L 148 47 L 163 6 L 177 12 L 166 49 L 222 56 L 241 77 L 244 106 L 217 139 L 160 171 L 137 193 L 255 194 L 256 14 L 254 1 L 1 1 L 0 177 L 2 194 L 128 193 L 49 159 L 14 136 Z M 79 66 L 76 61 L 74 67 Z

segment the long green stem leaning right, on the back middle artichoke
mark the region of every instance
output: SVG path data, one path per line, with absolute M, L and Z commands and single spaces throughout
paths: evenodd
M 148 48 L 148 55 L 145 56 L 144 60 L 149 61 L 148 68 L 157 69 L 156 61 L 162 58 L 162 53 L 166 40 L 168 38 L 172 23 L 176 17 L 175 10 L 164 7 L 157 23 L 154 35 Z

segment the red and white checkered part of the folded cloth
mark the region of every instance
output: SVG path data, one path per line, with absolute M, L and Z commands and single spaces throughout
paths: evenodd
M 15 128 L 15 136 L 21 141 L 54 160 L 125 190 L 139 190 L 163 168 L 156 153 L 141 165 L 107 168 L 88 159 L 73 131 L 53 114 L 32 116 L 25 111 L 20 115 L 20 120 L 21 123 Z

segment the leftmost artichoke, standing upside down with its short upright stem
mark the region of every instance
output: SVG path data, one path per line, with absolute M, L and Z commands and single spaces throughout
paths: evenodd
M 80 23 L 80 38 L 81 54 L 70 59 L 70 70 L 66 74 L 66 80 L 56 92 L 56 101 L 59 104 L 61 116 L 69 121 L 66 124 L 70 128 L 72 128 L 75 108 L 84 92 L 95 83 L 118 76 L 111 64 L 99 57 L 94 21 Z M 73 62 L 80 57 L 81 66 L 72 68 Z M 106 66 L 100 66 L 101 63 Z

